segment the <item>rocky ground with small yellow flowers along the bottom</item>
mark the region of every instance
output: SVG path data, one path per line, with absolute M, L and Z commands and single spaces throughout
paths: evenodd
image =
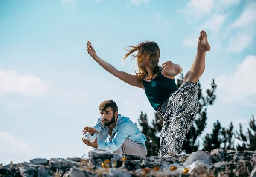
M 0 166 L 0 177 L 256 177 L 256 151 L 197 151 L 141 158 L 93 150 L 88 159 L 33 159 Z

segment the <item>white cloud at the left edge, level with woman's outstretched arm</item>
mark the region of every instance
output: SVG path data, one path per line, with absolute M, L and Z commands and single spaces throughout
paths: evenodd
M 39 77 L 31 74 L 18 75 L 17 71 L 0 69 L 0 92 L 18 94 L 42 94 L 49 89 Z

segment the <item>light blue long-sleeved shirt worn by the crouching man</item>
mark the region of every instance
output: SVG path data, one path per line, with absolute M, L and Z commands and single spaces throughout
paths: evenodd
M 130 118 L 118 114 L 116 126 L 113 128 L 112 135 L 109 138 L 110 141 L 106 141 L 108 137 L 108 126 L 104 126 L 100 118 L 96 120 L 93 128 L 99 131 L 99 134 L 94 133 L 93 136 L 88 132 L 84 134 L 85 138 L 90 141 L 94 141 L 97 137 L 98 148 L 106 151 L 116 151 L 124 143 L 125 139 L 134 141 L 135 143 L 141 143 L 145 148 L 145 141 L 147 140 L 145 135 L 140 133 L 137 126 L 130 120 Z M 93 148 L 95 149 L 95 148 Z

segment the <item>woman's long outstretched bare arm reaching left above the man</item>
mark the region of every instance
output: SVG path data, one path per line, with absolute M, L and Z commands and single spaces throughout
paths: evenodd
M 126 72 L 119 71 L 115 67 L 113 67 L 111 64 L 109 64 L 108 62 L 106 62 L 106 61 L 102 60 L 100 57 L 98 57 L 96 54 L 96 51 L 93 49 L 93 46 L 91 46 L 90 42 L 87 43 L 87 51 L 90 54 L 90 56 L 93 57 L 93 59 L 97 63 L 99 63 L 99 65 L 102 66 L 102 68 L 104 68 L 106 71 L 113 74 L 115 77 L 118 77 L 125 83 L 128 83 L 132 86 L 144 89 L 143 83 L 137 81 L 137 75 L 131 75 Z

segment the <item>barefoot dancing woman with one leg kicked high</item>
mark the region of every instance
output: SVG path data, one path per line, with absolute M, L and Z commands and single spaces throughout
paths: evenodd
M 175 83 L 175 76 L 182 72 L 182 68 L 171 61 L 163 63 L 162 67 L 158 66 L 160 49 L 157 43 L 145 41 L 130 47 L 123 61 L 129 55 L 137 58 L 138 71 L 134 75 L 119 71 L 98 57 L 89 41 L 87 52 L 102 68 L 114 76 L 145 90 L 151 106 L 163 116 L 158 156 L 178 154 L 198 113 L 197 85 L 205 69 L 206 51 L 210 50 L 206 32 L 200 32 L 197 53 L 180 88 Z M 137 54 L 134 55 L 136 51 Z

